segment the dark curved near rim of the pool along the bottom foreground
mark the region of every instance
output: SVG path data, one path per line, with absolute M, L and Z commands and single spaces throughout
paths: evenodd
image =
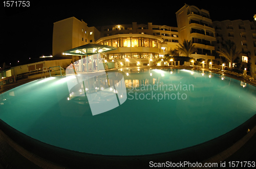
M 40 165 L 45 165 L 45 163 L 51 163 L 51 165 L 53 166 L 57 165 L 59 167 L 64 166 L 68 168 L 84 168 L 86 166 L 90 166 L 90 168 L 107 168 L 106 166 L 109 166 L 110 168 L 120 168 L 121 166 L 131 168 L 144 168 L 145 166 L 149 166 L 150 161 L 209 161 L 210 158 L 222 153 L 225 150 L 230 149 L 230 147 L 232 147 L 234 144 L 241 144 L 239 142 L 241 142 L 241 139 L 243 139 L 244 137 L 248 137 L 248 135 L 251 134 L 255 135 L 255 122 L 256 115 L 251 117 L 249 120 L 247 120 L 245 123 L 238 126 L 237 128 L 229 131 L 228 133 L 193 147 L 165 153 L 134 156 L 96 155 L 58 148 L 31 138 L 17 131 L 16 129 L 13 129 L 2 120 L 0 120 L 0 127 L 2 129 L 0 131 L 0 136 L 1 138 L 4 138 L 5 142 L 7 142 L 9 145 L 13 145 L 13 143 L 15 143 L 15 146 L 19 147 L 18 150 L 22 151 L 19 152 L 20 154 L 26 154 L 24 150 L 32 153 L 33 157 L 41 160 Z M 247 134 L 246 131 L 248 128 L 250 130 L 253 128 L 252 131 L 254 133 L 249 132 L 249 134 Z M 8 138 L 10 138 L 11 140 L 8 140 Z M 13 143 L 11 143 L 12 141 Z M 246 142 L 242 143 L 245 144 Z M 3 148 L 0 148 L 0 150 L 1 149 Z M 26 158 L 28 159 L 28 157 Z M 214 159 L 216 160 L 216 158 Z M 223 158 L 221 158 L 221 161 L 223 161 Z M 33 160 L 31 162 L 34 163 Z

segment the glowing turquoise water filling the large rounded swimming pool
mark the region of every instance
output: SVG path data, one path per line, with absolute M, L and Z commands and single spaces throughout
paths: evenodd
M 109 111 L 93 116 L 87 96 L 72 96 L 72 90 L 83 92 L 82 83 L 69 89 L 71 77 L 51 77 L 1 94 L 0 119 L 57 147 L 143 155 L 204 143 L 256 114 L 256 88 L 239 80 L 178 69 L 118 72 L 127 98 Z

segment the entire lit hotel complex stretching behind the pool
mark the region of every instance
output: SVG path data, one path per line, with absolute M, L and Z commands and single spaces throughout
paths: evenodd
M 242 51 L 241 60 L 246 63 L 250 57 L 251 71 L 256 71 L 255 23 L 248 20 L 212 22 L 208 11 L 186 4 L 176 12 L 176 18 L 178 27 L 132 22 L 97 29 L 88 27 L 86 22 L 75 17 L 67 18 L 54 23 L 53 55 L 87 43 L 96 43 L 117 48 L 101 54 L 104 60 L 114 60 L 120 65 L 128 59 L 130 65 L 139 62 L 142 66 L 147 65 L 150 59 L 156 61 L 170 54 L 170 50 L 177 49 L 177 45 L 184 40 L 190 40 L 197 48 L 190 57 L 209 63 L 215 60 L 215 51 L 220 48 L 220 43 L 230 39 Z M 78 59 L 73 56 L 73 61 Z

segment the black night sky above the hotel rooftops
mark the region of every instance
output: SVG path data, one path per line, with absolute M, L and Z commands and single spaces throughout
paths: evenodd
M 2 1 L 0 67 L 3 62 L 23 62 L 29 58 L 51 55 L 53 23 L 72 16 L 83 19 L 88 26 L 132 22 L 177 26 L 175 13 L 184 3 L 209 11 L 212 21 L 252 20 L 256 13 L 256 3 L 253 4 L 253 1 L 68 2 L 33 1 L 30 7 L 4 7 Z M 220 5 L 220 2 L 225 4 Z

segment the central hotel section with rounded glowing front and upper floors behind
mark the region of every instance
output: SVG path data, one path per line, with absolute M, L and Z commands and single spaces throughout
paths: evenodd
M 116 60 L 130 64 L 147 65 L 148 60 L 156 61 L 171 49 L 177 48 L 177 27 L 153 25 L 152 23 L 102 26 L 101 37 L 97 43 L 116 47 L 110 53 L 105 53 L 106 60 Z

